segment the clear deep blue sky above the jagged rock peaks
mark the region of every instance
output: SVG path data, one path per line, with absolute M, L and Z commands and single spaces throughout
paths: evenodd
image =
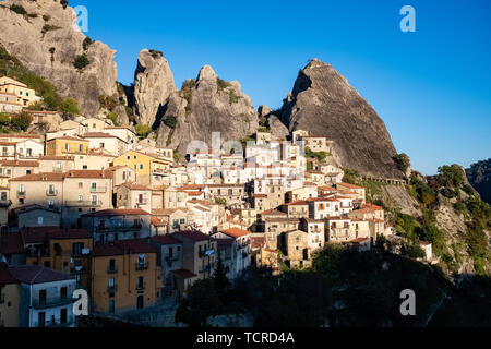
M 70 1 L 88 36 L 117 50 L 133 81 L 143 48 L 161 50 L 180 87 L 211 64 L 255 106 L 279 107 L 311 58 L 331 63 L 426 174 L 491 157 L 491 1 Z M 399 29 L 403 5 L 416 33 Z

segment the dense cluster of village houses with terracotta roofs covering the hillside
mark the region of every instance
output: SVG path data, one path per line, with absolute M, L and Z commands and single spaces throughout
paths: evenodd
M 394 236 L 342 169 L 307 170 L 306 147 L 334 152 L 326 137 L 255 140 L 193 149 L 181 165 L 98 118 L 0 134 L 0 327 L 75 326 L 76 289 L 92 312 L 119 313 L 184 297 L 219 261 L 231 279 L 251 265 L 280 273 L 326 243 L 364 251 Z

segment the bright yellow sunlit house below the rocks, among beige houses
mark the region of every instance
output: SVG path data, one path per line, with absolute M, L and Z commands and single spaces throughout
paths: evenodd
M 117 157 L 113 166 L 128 166 L 136 173 L 136 183 L 148 185 L 157 184 L 170 170 L 170 161 L 160 158 L 158 155 L 144 154 L 136 151 L 129 151 Z

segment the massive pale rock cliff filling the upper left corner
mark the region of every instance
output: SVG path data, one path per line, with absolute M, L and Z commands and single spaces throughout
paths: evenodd
M 117 95 L 116 51 L 100 41 L 84 49 L 85 35 L 74 25 L 72 8 L 63 9 L 52 0 L 5 0 L 1 4 L 0 44 L 27 69 L 50 81 L 62 97 L 75 98 L 82 113 L 96 115 L 100 95 Z M 11 4 L 22 5 L 29 15 L 10 10 Z M 89 61 L 81 71 L 73 65 L 80 55 Z

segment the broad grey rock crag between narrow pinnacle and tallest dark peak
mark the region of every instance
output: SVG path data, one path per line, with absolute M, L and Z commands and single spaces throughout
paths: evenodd
M 170 95 L 160 121 L 158 144 L 180 154 L 191 141 L 211 146 L 212 132 L 220 132 L 223 142 L 241 142 L 258 130 L 258 112 L 240 84 L 219 80 L 209 65 Z

